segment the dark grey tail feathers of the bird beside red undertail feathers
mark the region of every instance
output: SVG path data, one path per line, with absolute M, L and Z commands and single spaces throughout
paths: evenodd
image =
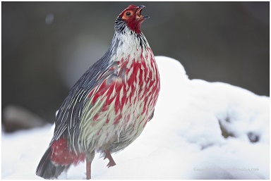
M 61 166 L 52 163 L 50 157 L 52 155 L 52 150 L 49 148 L 45 151 L 39 165 L 37 166 L 36 175 L 43 177 L 45 179 L 57 178 L 64 171 L 68 170 L 71 165 Z

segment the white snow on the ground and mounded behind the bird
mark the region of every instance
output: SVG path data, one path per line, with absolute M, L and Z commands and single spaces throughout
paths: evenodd
M 92 178 L 269 179 L 270 98 L 222 82 L 189 80 L 178 61 L 156 60 L 161 92 L 154 118 L 133 144 L 113 155 L 116 166 L 107 168 L 96 154 Z M 2 131 L 2 179 L 42 179 L 35 169 L 53 132 L 52 125 Z M 59 179 L 85 179 L 85 163 Z

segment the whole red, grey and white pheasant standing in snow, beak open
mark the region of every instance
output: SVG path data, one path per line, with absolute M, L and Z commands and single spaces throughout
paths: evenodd
M 59 177 L 86 162 L 86 179 L 96 153 L 108 158 L 130 145 L 154 116 L 160 78 L 155 56 L 140 30 L 145 6 L 130 5 L 114 23 L 104 56 L 80 77 L 56 113 L 54 135 L 36 175 Z

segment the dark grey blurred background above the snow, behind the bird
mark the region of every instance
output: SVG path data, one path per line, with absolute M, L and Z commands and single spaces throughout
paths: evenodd
M 107 51 L 128 5 L 155 56 L 190 79 L 270 95 L 269 2 L 1 2 L 2 129 L 53 123 L 69 89 Z M 170 80 L 169 80 L 170 81 Z

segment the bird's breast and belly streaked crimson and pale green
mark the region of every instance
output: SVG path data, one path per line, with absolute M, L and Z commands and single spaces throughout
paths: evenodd
M 80 125 L 83 139 L 96 137 L 101 145 L 111 137 L 125 135 L 126 130 L 137 137 L 154 111 L 159 94 L 159 73 L 152 53 L 121 58 L 109 69 L 114 70 L 112 76 L 88 95 Z

